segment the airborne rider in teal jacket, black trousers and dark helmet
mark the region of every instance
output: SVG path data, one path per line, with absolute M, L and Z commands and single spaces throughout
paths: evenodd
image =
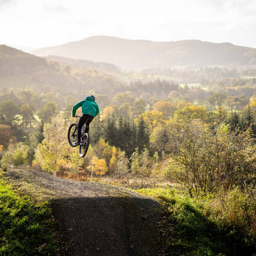
M 76 111 L 78 108 L 82 107 L 83 116 L 80 118 L 77 125 L 77 141 L 74 145 L 80 145 L 81 140 L 81 130 L 84 124 L 86 124 L 86 131 L 89 132 L 89 125 L 92 122 L 93 118 L 99 114 L 99 106 L 95 102 L 95 96 L 90 95 L 86 99 L 79 101 L 72 109 L 72 116 L 76 116 Z

